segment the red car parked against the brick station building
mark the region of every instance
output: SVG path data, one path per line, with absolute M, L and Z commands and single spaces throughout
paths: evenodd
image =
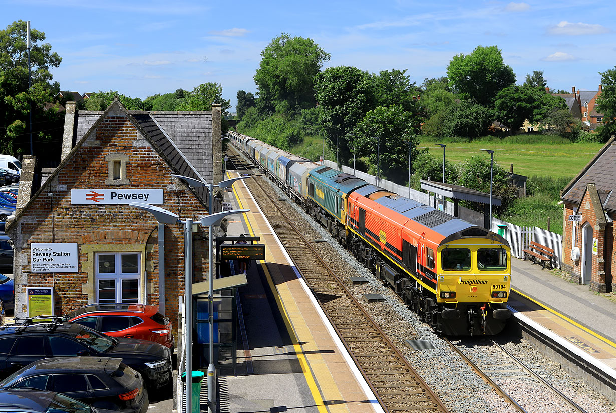
M 171 321 L 158 307 L 144 304 L 91 304 L 70 313 L 67 321 L 100 331 L 110 337 L 148 340 L 173 349 L 176 340 Z

